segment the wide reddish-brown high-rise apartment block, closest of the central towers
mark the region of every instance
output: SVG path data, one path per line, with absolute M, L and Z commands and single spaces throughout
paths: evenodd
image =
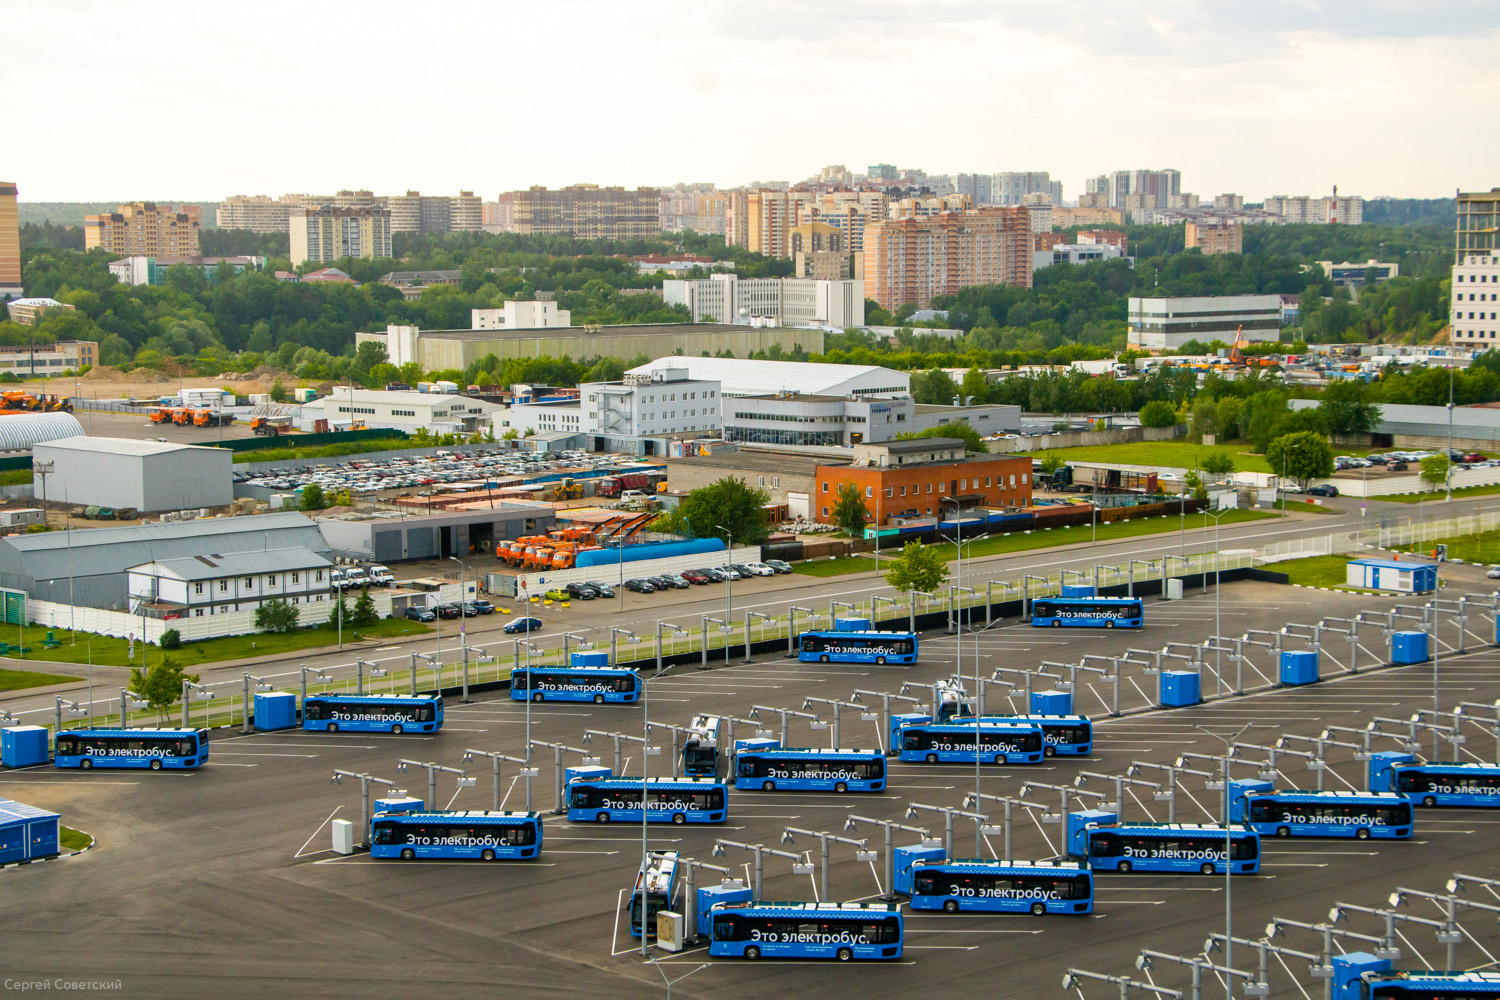
M 1023 205 L 890 219 L 864 232 L 864 294 L 885 309 L 924 309 L 934 295 L 969 285 L 1030 282 L 1030 211 Z

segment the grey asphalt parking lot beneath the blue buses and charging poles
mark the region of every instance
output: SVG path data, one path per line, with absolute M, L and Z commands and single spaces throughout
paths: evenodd
M 1452 594 L 1450 594 L 1452 595 Z M 1179 603 L 1148 604 L 1142 631 L 1038 630 L 1014 619 L 964 634 L 940 631 L 922 637 L 921 658 L 912 667 L 800 664 L 782 657 L 708 672 L 678 670 L 650 682 L 651 718 L 687 724 L 698 712 L 746 717 L 752 708 L 801 711 L 804 699 L 849 700 L 855 690 L 897 691 L 903 682 L 930 684 L 957 667 L 982 676 L 996 667 L 1034 669 L 1044 661 L 1077 663 L 1080 657 L 1119 657 L 1130 648 L 1154 651 L 1168 643 L 1198 643 L 1214 633 L 1215 613 L 1222 634 L 1275 631 L 1287 622 L 1322 616 L 1344 618 L 1359 610 L 1380 610 L 1395 598 L 1318 592 L 1268 583 L 1227 586 L 1218 609 L 1214 592 L 1194 592 Z M 636 598 L 640 600 L 640 598 Z M 1472 613 L 1466 645 L 1456 655 L 1456 630 L 1444 631 L 1440 666 L 1442 702 L 1488 703 L 1500 696 L 1496 667 L 1500 651 L 1491 618 Z M 1173 646 L 1174 648 L 1174 646 Z M 1292 648 L 1292 646 L 1288 646 Z M 1148 711 L 1154 682 L 1140 666 L 1122 672 L 1119 718 L 1106 718 L 1110 687 L 1092 675 L 1078 676 L 1077 706 L 1096 721 L 1095 751 L 1089 759 L 1048 759 L 1034 766 L 986 766 L 980 787 L 986 795 L 1016 796 L 1028 780 L 1071 784 L 1077 772 L 1120 774 L 1132 762 L 1170 763 L 1180 753 L 1221 753 L 1215 736 L 1251 726 L 1242 738 L 1263 745 L 1280 736 L 1312 736 L 1329 724 L 1362 727 L 1376 717 L 1406 718 L 1432 700 L 1432 664 L 1372 669 L 1384 658 L 1378 630 L 1362 636 L 1356 651 L 1360 673 L 1347 675 L 1348 645 L 1324 640 L 1324 679 L 1306 688 L 1269 688 L 1256 670 L 1270 667 L 1269 652 L 1246 651 L 1244 697 L 1209 702 L 1176 711 Z M 1215 657 L 1206 654 L 1212 667 Z M 1233 684 L 1234 667 L 1224 670 Z M 1274 675 L 1274 669 L 1272 669 Z M 1204 673 L 1212 694 L 1218 676 Z M 992 688 L 988 711 L 1005 711 L 1006 696 Z M 870 705 L 870 699 L 864 699 Z M 1018 697 L 1011 700 L 1023 706 Z M 1138 711 L 1137 711 L 1138 709 Z M 826 706 L 810 706 L 826 721 Z M 762 726 L 778 729 L 774 715 L 760 714 Z M 770 720 L 770 721 L 766 721 Z M 873 747 L 884 739 L 879 724 L 855 709 L 843 712 L 844 745 Z M 532 738 L 582 748 L 585 729 L 639 735 L 639 706 L 532 706 Z M 1062 996 L 1059 981 L 1070 966 L 1104 973 L 1134 975 L 1142 948 L 1180 955 L 1202 951 L 1203 937 L 1224 925 L 1222 879 L 1170 876 L 1101 876 L 1092 916 L 908 916 L 906 954 L 900 963 L 836 966 L 822 963 L 744 963 L 708 960 L 705 951 L 669 957 L 662 972 L 644 964 L 626 934 L 620 906 L 633 882 L 640 856 L 640 829 L 633 825 L 596 826 L 548 816 L 543 855 L 537 862 L 376 862 L 356 855 L 330 853 L 328 822 L 357 820 L 358 783 L 328 784 L 333 768 L 366 772 L 396 781 L 423 795 L 426 775 L 412 768 L 396 771 L 400 757 L 468 768 L 477 787 L 454 789 L 452 775 L 438 781 L 438 802 L 452 808 L 486 808 L 490 802 L 488 760 L 464 765 L 465 748 L 524 753 L 526 706 L 504 693 L 477 696 L 470 705 L 447 702 L 442 732 L 428 736 L 339 736 L 303 733 L 216 733 L 210 765 L 196 772 L 63 772 L 51 768 L 10 772 L 0 778 L 3 795 L 63 813 L 64 823 L 99 838 L 84 855 L 0 871 L 4 898 L 24 922 L 8 927 L 6 973 L 18 978 L 122 979 L 120 996 L 320 996 L 366 997 L 414 990 L 447 996 L 662 996 L 662 975 L 696 970 L 674 988 L 696 997 L 786 997 L 806 991 L 856 990 L 867 996 L 918 996 L 933 991 L 998 997 Z M 789 745 L 826 744 L 806 720 L 789 720 Z M 1198 729 L 1202 727 L 1202 729 Z M 1203 732 L 1208 730 L 1208 732 Z M 1472 729 L 1464 759 L 1492 759 L 1490 738 Z M 651 759 L 652 774 L 668 766 Z M 1305 745 L 1304 745 L 1305 747 Z M 1386 741 L 1377 747 L 1395 750 Z M 612 763 L 608 739 L 596 739 L 591 753 Z M 1364 787 L 1364 763 L 1352 750 L 1329 751 L 1328 787 Z M 622 748 L 624 771 L 639 774 L 639 745 Z M 1468 756 L 1472 754 L 1472 756 Z M 564 753 L 564 765 L 580 754 Z M 532 787 L 537 810 L 554 799 L 552 751 L 540 750 L 540 777 Z M 1202 765 L 1200 765 L 1202 766 Z M 1278 784 L 1308 787 L 1312 772 L 1299 760 L 1281 765 Z M 879 828 L 861 825 L 844 832 L 850 811 L 927 828 L 942 837 L 942 817 L 921 813 L 906 819 L 908 804 L 960 807 L 975 789 L 975 772 L 964 765 L 891 763 L 890 790 L 884 795 L 837 796 L 810 793 L 730 792 L 729 820 L 723 826 L 652 826 L 651 846 L 744 871 L 752 858 L 726 849 L 711 858 L 716 838 L 807 852 L 816 861 L 814 840 L 782 843 L 786 826 L 868 838 L 884 850 Z M 506 765 L 502 807 L 522 808 L 525 781 Z M 1104 786 L 1104 783 L 1100 783 Z M 1090 786 L 1095 787 L 1095 786 Z M 1098 787 L 1108 792 L 1107 787 Z M 380 793 L 381 789 L 376 789 Z M 1058 793 L 1032 789 L 1026 796 L 1058 804 Z M 1184 777 L 1176 799 L 1179 822 L 1214 822 L 1218 795 L 1203 778 Z M 1077 808 L 1077 802 L 1071 808 Z M 1125 811 L 1138 820 L 1166 819 L 1164 805 L 1142 790 L 1128 795 Z M 998 807 L 993 823 L 999 823 Z M 1059 829 L 1040 813 L 1017 810 L 1014 853 L 1048 858 L 1059 849 Z M 1440 892 L 1455 871 L 1492 874 L 1500 838 L 1500 816 L 1464 810 L 1419 810 L 1418 835 L 1407 843 L 1376 841 L 1268 841 L 1263 874 L 1236 879 L 1233 910 L 1236 936 L 1260 937 L 1272 916 L 1306 922 L 1324 919 L 1335 901 L 1384 906 L 1396 885 Z M 916 840 L 900 834 L 897 846 Z M 974 823 L 958 820 L 956 855 L 969 856 Z M 996 855 L 1000 838 L 986 835 L 984 855 Z M 706 876 L 705 876 L 706 877 Z M 854 849 L 834 846 L 831 895 L 868 900 L 885 886 L 880 862 L 856 862 Z M 700 880 L 702 885 L 702 880 Z M 790 862 L 765 861 L 765 898 L 812 900 L 818 877 L 792 876 Z M 1414 910 L 1424 913 L 1425 910 Z M 1431 916 L 1431 915 L 1430 915 Z M 1356 925 L 1356 930 L 1376 931 Z M 1466 966 L 1488 961 L 1479 946 L 1494 951 L 1494 925 L 1470 921 L 1473 937 L 1460 946 Z M 1424 928 L 1408 931 L 1407 955 L 1428 960 L 1442 949 Z M 1317 951 L 1317 940 L 1292 942 Z M 1236 966 L 1252 963 L 1244 949 Z M 1293 966 L 1304 988 L 1305 963 Z M 1155 981 L 1184 988 L 1186 973 L 1158 966 Z M 1274 976 L 1272 996 L 1305 996 L 1287 973 Z M 420 984 L 420 985 L 418 985 Z M 1221 987 L 1218 987 L 1221 988 Z M 1116 996 L 1113 988 L 1086 987 L 1086 997 Z

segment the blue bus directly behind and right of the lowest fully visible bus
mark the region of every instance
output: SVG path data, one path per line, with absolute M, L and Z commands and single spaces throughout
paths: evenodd
M 1092 913 L 1094 873 L 1076 861 L 916 861 L 910 906 L 944 913 Z

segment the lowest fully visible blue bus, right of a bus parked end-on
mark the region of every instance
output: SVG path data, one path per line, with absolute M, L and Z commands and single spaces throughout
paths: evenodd
M 894 903 L 717 903 L 708 927 L 708 954 L 726 958 L 902 957 Z

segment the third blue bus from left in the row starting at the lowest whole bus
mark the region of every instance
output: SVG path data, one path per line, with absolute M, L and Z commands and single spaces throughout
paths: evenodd
M 1094 871 L 1197 871 L 1224 874 L 1224 828 L 1196 823 L 1090 826 L 1086 831 Z M 1230 873 L 1260 871 L 1260 834 L 1230 828 Z

